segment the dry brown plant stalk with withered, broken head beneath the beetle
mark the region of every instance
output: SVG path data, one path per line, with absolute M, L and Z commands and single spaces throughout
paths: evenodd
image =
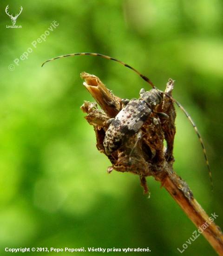
M 85 79 L 85 88 L 92 94 L 103 110 L 99 110 L 96 103 L 87 101 L 81 106 L 81 109 L 87 113 L 85 119 L 94 127 L 98 150 L 106 155 L 103 145 L 105 133 L 108 129 L 106 121 L 115 117 L 121 110 L 121 99 L 112 94 L 98 77 L 85 72 L 81 74 L 81 77 Z M 171 95 L 173 85 L 174 81 L 170 79 L 165 92 Z M 107 171 L 110 173 L 114 169 L 119 172 L 131 172 L 139 175 L 144 193 L 148 192 L 145 177 L 153 176 L 156 181 L 161 183 L 161 187 L 164 187 L 169 192 L 195 226 L 203 229 L 203 236 L 218 255 L 223 256 L 223 234 L 221 229 L 216 226 L 212 221 L 213 218 L 211 220 L 194 199 L 187 183 L 173 170 L 176 112 L 171 99 L 164 95 L 164 100 L 158 106 L 157 112 L 166 113 L 169 116 L 168 120 L 161 119 L 158 125 L 154 125 L 151 120 L 152 118 L 157 118 L 157 116 L 156 113 L 152 112 L 151 118 L 141 128 L 141 140 L 138 140 L 135 135 L 111 155 L 106 155 L 112 163 L 112 166 L 108 167 Z M 166 148 L 164 147 L 164 140 L 166 141 Z M 131 158 L 129 157 L 130 153 Z

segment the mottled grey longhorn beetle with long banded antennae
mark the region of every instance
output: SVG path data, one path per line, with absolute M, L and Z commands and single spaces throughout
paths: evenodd
M 171 97 L 170 94 L 160 91 L 158 90 L 153 83 L 150 81 L 150 79 L 146 76 L 144 76 L 143 74 L 139 73 L 135 68 L 129 66 L 128 64 L 125 64 L 122 61 L 118 61 L 117 59 L 114 59 L 112 57 L 106 56 L 104 54 L 96 54 L 96 53 L 75 53 L 75 54 L 67 54 L 67 55 L 62 55 L 62 56 L 58 56 L 56 58 L 50 59 L 48 61 L 53 61 L 59 58 L 64 58 L 64 57 L 69 57 L 69 56 L 75 56 L 75 55 L 94 55 L 94 56 L 100 56 L 106 59 L 109 59 L 111 61 L 117 61 L 119 63 L 121 63 L 122 65 L 124 65 L 125 67 L 128 67 L 130 69 L 132 69 L 134 72 L 136 72 L 139 76 L 142 77 L 142 79 L 144 81 L 146 81 L 147 83 L 149 83 L 152 86 L 152 89 L 148 92 L 145 92 L 144 89 L 141 89 L 140 91 L 140 98 L 139 100 L 137 99 L 132 99 L 131 101 L 125 101 L 125 99 L 123 99 L 123 103 L 127 104 L 125 108 L 123 108 L 118 115 L 111 119 L 108 120 L 111 125 L 109 126 L 106 134 L 105 134 L 105 141 L 104 141 L 104 146 L 105 146 L 105 152 L 107 155 L 111 154 L 113 151 L 117 150 L 118 148 L 120 148 L 120 146 L 123 145 L 123 143 L 126 141 L 126 139 L 136 133 L 138 133 L 139 129 L 142 127 L 142 125 L 144 124 L 144 122 L 147 120 L 147 118 L 150 116 L 151 112 L 156 108 L 156 106 L 162 102 L 163 99 L 163 95 L 165 94 L 167 97 L 169 97 L 171 99 L 171 101 L 174 101 L 177 106 L 184 112 L 184 114 L 187 116 L 187 118 L 189 119 L 190 123 L 193 125 L 197 136 L 199 138 L 200 144 L 202 146 L 203 149 L 203 155 L 205 158 L 205 162 L 206 165 L 208 167 L 208 171 L 209 171 L 209 176 L 210 176 L 210 182 L 211 182 L 211 188 L 213 190 L 213 182 L 212 182 L 212 177 L 211 177 L 211 172 L 210 172 L 210 165 L 208 162 L 208 158 L 207 158 L 207 154 L 204 148 L 204 144 L 203 144 L 203 140 L 201 138 L 200 133 L 198 132 L 198 129 L 194 123 L 194 121 L 191 119 L 190 115 L 187 113 L 187 111 L 181 106 L 181 104 L 176 101 L 173 97 Z M 48 62 L 45 61 L 41 67 L 43 67 L 43 65 Z M 136 111 L 137 108 L 140 108 L 140 111 Z M 128 127 L 123 126 L 123 122 L 122 122 L 122 117 L 121 116 L 125 116 L 127 118 L 127 114 L 131 112 L 131 117 L 130 117 L 130 124 L 128 125 Z M 160 116 L 161 118 L 167 119 L 168 116 L 165 113 L 157 113 L 158 116 Z M 120 121 L 121 121 L 121 125 L 120 125 Z M 134 125 L 131 124 L 131 122 L 134 121 Z M 155 123 L 157 121 L 155 120 Z M 125 122 L 124 122 L 125 123 Z M 154 123 L 154 124 L 155 124 Z M 121 128 L 121 126 L 123 128 Z M 119 127 L 119 130 L 117 130 L 117 127 Z M 127 128 L 127 130 L 126 130 Z M 118 131 L 118 136 L 114 137 L 112 135 L 112 132 L 116 129 L 116 131 Z M 126 135 L 127 134 L 127 135 Z

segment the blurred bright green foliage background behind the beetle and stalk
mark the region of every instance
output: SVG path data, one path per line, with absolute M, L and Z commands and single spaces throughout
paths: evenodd
M 23 7 L 16 21 L 22 28 L 6 27 L 12 25 L 7 5 L 13 15 Z M 214 192 L 197 135 L 177 107 L 174 169 L 223 227 L 222 1 L 2 0 L 0 10 L 0 255 L 11 254 L 5 247 L 149 247 L 150 255 L 177 256 L 196 230 L 152 177 L 148 199 L 138 176 L 107 174 L 110 162 L 97 151 L 93 128 L 79 109 L 84 100 L 93 101 L 82 71 L 97 75 L 122 98 L 137 98 L 150 85 L 119 63 L 95 56 L 41 68 L 48 59 L 75 52 L 124 61 L 161 90 L 169 78 L 176 81 L 174 98 L 202 135 Z M 50 31 L 53 21 L 59 26 Z M 33 47 L 46 30 L 46 41 Z M 17 66 L 14 60 L 28 48 L 33 51 Z M 75 253 L 91 254 L 101 253 Z M 110 253 L 116 254 L 126 255 Z M 216 253 L 199 236 L 183 255 Z

